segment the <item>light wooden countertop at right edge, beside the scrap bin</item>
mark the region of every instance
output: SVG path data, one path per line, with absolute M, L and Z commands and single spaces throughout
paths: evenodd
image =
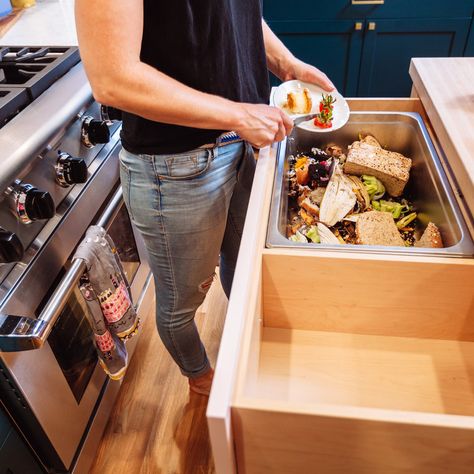
M 474 58 L 415 58 L 410 76 L 474 215 Z

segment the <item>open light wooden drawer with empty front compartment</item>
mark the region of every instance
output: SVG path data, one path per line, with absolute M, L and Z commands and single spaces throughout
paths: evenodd
M 416 99 L 358 104 L 423 113 Z M 217 472 L 471 472 L 474 260 L 266 249 L 273 154 L 209 400 Z

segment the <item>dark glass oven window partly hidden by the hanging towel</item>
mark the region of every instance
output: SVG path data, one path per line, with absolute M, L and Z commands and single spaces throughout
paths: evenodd
M 108 233 L 117 247 L 117 252 L 131 284 L 140 266 L 140 259 L 130 219 L 124 205 L 109 227 Z M 97 353 L 88 317 L 86 303 L 79 289 L 76 288 L 48 338 L 51 349 L 77 403 L 81 401 L 97 365 Z

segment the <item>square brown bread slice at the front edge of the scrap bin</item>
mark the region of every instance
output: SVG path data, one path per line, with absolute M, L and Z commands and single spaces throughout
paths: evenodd
M 360 214 L 356 222 L 357 243 L 361 245 L 405 246 L 390 212 L 369 211 Z

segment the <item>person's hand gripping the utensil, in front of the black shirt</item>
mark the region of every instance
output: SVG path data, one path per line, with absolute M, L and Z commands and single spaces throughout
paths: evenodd
M 255 148 L 283 140 L 291 133 L 293 121 L 282 110 L 264 104 L 238 104 L 239 123 L 234 130 Z

